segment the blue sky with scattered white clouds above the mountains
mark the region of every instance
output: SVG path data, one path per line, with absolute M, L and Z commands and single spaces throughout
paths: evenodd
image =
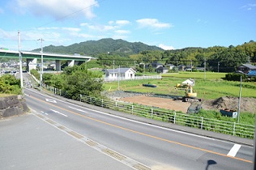
M 102 38 L 163 49 L 256 40 L 255 0 L 2 0 L 0 47 L 72 45 Z

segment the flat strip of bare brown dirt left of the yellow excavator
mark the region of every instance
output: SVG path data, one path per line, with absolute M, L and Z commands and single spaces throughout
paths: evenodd
M 130 103 L 143 104 L 147 106 L 172 109 L 175 111 L 181 111 L 182 113 L 186 113 L 187 109 L 190 107 L 189 102 L 182 102 L 181 100 L 172 100 L 151 96 L 132 96 L 121 98 L 119 100 Z

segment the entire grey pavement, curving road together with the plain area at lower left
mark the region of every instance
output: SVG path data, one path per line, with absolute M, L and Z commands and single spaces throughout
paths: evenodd
M 0 169 L 253 168 L 253 147 L 239 138 L 186 133 L 24 92 L 32 114 L 0 121 Z

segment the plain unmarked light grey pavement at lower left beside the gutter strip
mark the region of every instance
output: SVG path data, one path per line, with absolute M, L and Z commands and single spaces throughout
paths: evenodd
M 0 121 L 0 169 L 132 169 L 32 114 Z

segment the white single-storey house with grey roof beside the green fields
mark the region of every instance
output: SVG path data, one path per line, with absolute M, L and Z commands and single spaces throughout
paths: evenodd
M 132 68 L 106 69 L 105 79 L 134 79 L 135 73 Z

